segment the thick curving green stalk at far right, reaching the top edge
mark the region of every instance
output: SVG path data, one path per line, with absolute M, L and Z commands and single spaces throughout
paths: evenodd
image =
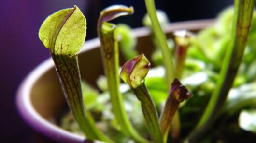
M 242 61 L 247 37 L 251 27 L 252 15 L 255 0 L 235 0 L 235 14 L 232 29 L 232 45 L 227 48 L 226 56 L 217 87 L 208 103 L 195 130 L 187 138 L 187 142 L 197 142 L 198 139 L 208 131 L 216 120 L 221 108 L 223 107 L 236 77 L 239 65 Z

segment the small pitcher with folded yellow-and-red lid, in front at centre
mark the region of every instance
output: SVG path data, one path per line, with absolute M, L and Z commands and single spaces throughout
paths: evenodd
M 149 71 L 150 63 L 144 54 L 128 60 L 120 73 L 125 83 L 142 103 L 142 112 L 149 133 L 154 143 L 163 143 L 162 133 L 158 123 L 158 115 L 151 95 L 144 84 L 144 78 Z

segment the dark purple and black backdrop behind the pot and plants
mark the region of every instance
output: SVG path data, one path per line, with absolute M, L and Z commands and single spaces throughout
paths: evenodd
M 233 0 L 155 0 L 171 22 L 214 18 Z M 100 10 L 112 4 L 134 6 L 132 16 L 119 18 L 140 27 L 146 13 L 144 0 L 1 0 L 0 1 L 0 143 L 34 143 L 32 130 L 15 106 L 18 85 L 39 63 L 50 57 L 38 38 L 47 15 L 77 5 L 87 18 L 86 40 L 96 37 Z

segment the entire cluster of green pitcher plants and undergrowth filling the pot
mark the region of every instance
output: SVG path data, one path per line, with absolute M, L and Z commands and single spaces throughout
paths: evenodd
M 217 50 L 210 49 L 212 50 L 210 52 L 207 51 L 208 49 L 201 48 L 200 38 L 202 37 L 200 36 L 203 34 L 199 33 L 194 37 L 187 31 L 176 31 L 174 33 L 175 48 L 170 48 L 157 19 L 154 0 L 145 0 L 145 5 L 151 22 L 149 28 L 152 30 L 152 39 L 162 53 L 160 63 L 162 62 L 163 66 L 159 67 L 162 67 L 165 73 L 163 77 L 150 72 L 150 62 L 144 54 L 137 55 L 135 49 L 132 48 L 134 44 L 130 44 L 135 39 L 128 36 L 128 28 L 124 25 L 116 26 L 109 23 L 119 16 L 133 14 L 132 7 L 114 5 L 100 13 L 97 32 L 105 76 L 100 79 L 103 82 L 99 82 L 99 87 L 104 95 L 81 79 L 78 53 L 85 42 L 86 20 L 78 7 L 60 10 L 50 15 L 40 28 L 39 38 L 50 50 L 64 95 L 71 109 L 72 118 L 88 140 L 108 143 L 199 142 L 207 131 L 212 131 L 211 127 L 215 125 L 216 120 L 225 117 L 222 115 L 227 113 L 227 110 L 234 109 L 236 105 L 242 107 L 244 104 L 248 105 L 248 100 L 235 103 L 226 99 L 232 86 L 239 88 L 245 83 L 241 74 L 237 76 L 237 73 L 242 63 L 247 38 L 249 36 L 250 41 L 255 37 L 254 33 L 249 34 L 255 0 L 235 0 L 234 14 L 232 14 L 233 25 L 230 30 L 232 33 L 223 42 L 228 44 L 222 43 Z M 206 29 L 206 31 L 211 31 L 211 29 Z M 121 35 L 120 45 L 125 57 L 129 57 L 127 59 L 133 57 L 123 65 L 121 72 L 119 72 L 118 34 Z M 207 34 L 204 35 L 207 37 Z M 207 38 L 205 41 L 209 39 L 211 41 L 211 38 Z M 250 50 L 251 53 L 255 53 L 255 49 L 250 48 Z M 211 52 L 217 56 L 209 54 Z M 213 57 L 218 57 L 218 60 L 223 60 L 223 62 Z M 247 64 L 242 64 L 245 69 L 253 68 L 255 60 L 252 57 L 250 53 L 245 52 Z M 209 65 L 207 70 L 200 71 L 202 69 L 200 63 Z M 207 80 L 198 86 L 188 84 L 185 87 L 183 83 L 188 83 L 189 78 L 198 72 L 206 75 Z M 148 73 L 153 73 L 153 77 L 147 78 Z M 127 84 L 120 84 L 120 77 Z M 194 83 L 198 80 L 200 79 L 192 78 Z M 235 83 L 238 81 L 238 84 L 234 81 Z M 253 83 L 253 81 L 255 80 L 251 79 L 250 82 Z M 127 86 L 130 90 L 123 90 L 122 87 Z M 212 95 L 200 97 L 200 95 L 209 93 Z M 193 95 L 194 100 L 191 98 Z M 103 102 L 105 105 L 100 104 L 96 98 L 105 98 Z M 187 100 L 189 98 L 191 99 Z M 184 102 L 185 100 L 187 101 Z M 202 104 L 208 100 L 207 106 Z M 132 111 L 127 111 L 126 103 L 133 106 Z M 189 111 L 193 107 L 201 109 Z M 205 110 L 202 110 L 203 108 Z M 100 112 L 101 117 L 97 122 L 94 120 L 96 111 Z M 247 110 L 243 110 L 241 120 L 248 115 L 247 113 L 249 113 Z M 250 110 L 250 113 L 249 115 L 253 115 L 255 112 Z M 140 118 L 139 125 L 135 123 L 136 117 Z M 241 127 L 246 128 L 244 125 Z M 245 130 L 255 132 L 255 129 L 256 126 L 252 125 L 250 129 Z M 203 141 L 213 140 L 213 137 L 214 135 L 210 134 L 204 137 Z

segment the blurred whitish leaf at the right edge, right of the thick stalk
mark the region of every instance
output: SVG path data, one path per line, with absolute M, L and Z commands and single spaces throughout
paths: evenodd
M 256 133 L 256 109 L 242 110 L 239 115 L 239 126 L 245 131 Z

